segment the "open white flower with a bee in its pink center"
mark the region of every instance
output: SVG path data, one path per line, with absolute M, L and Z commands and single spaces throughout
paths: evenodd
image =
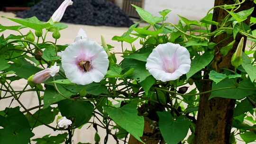
M 80 31 L 75 42 L 62 52 L 62 67 L 71 82 L 86 85 L 104 78 L 109 59 L 101 45 Z

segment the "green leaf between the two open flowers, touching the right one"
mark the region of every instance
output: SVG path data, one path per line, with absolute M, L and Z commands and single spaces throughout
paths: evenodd
M 132 78 L 137 81 L 144 81 L 150 73 L 146 70 L 146 63 L 130 58 L 125 58 L 122 61 L 122 68 L 124 71 L 128 71 L 134 68 Z

